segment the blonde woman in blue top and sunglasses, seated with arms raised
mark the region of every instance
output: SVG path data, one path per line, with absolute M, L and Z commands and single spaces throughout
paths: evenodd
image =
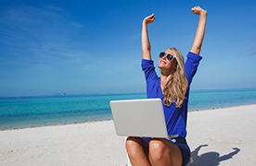
M 183 55 L 175 48 L 160 53 L 158 66 L 160 77 L 155 72 L 150 54 L 150 42 L 147 24 L 153 23 L 152 14 L 142 23 L 142 69 L 147 80 L 147 98 L 160 98 L 169 135 L 174 138 L 146 138 L 129 136 L 126 149 L 129 158 L 136 165 L 184 166 L 190 158 L 190 149 L 186 144 L 186 116 L 189 85 L 195 76 L 205 33 L 207 11 L 200 6 L 191 9 L 199 15 L 198 30 L 190 52 L 184 64 Z

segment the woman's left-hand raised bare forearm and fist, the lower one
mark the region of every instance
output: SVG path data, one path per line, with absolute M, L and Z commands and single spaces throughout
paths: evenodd
M 155 20 L 155 14 L 144 18 L 142 22 L 142 31 L 141 31 L 141 45 L 142 45 L 142 58 L 151 60 L 151 46 L 147 34 L 147 24 L 153 23 Z

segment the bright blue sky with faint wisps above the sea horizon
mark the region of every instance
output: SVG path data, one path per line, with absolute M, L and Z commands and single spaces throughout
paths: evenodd
M 193 6 L 208 19 L 191 89 L 255 89 L 256 1 L 8 0 L 0 2 L 0 96 L 146 92 L 142 20 L 156 15 L 148 25 L 155 65 L 168 47 L 186 57 Z

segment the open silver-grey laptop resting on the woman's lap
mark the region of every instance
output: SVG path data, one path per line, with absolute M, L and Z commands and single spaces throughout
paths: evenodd
M 160 99 L 110 101 L 118 136 L 168 136 Z

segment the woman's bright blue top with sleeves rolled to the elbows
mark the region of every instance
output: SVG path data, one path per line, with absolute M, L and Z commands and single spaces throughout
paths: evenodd
M 202 57 L 198 54 L 191 52 L 189 52 L 186 57 L 187 59 L 184 68 L 188 81 L 188 87 L 186 89 L 186 99 L 183 101 L 180 108 L 176 108 L 175 103 L 172 103 L 170 107 L 164 105 L 164 95 L 162 95 L 160 88 L 160 77 L 158 77 L 155 71 L 154 62 L 152 60 L 142 60 L 142 69 L 145 73 L 147 81 L 147 98 L 161 99 L 168 135 L 178 135 L 180 137 L 186 137 L 186 117 L 189 87 L 197 72 L 199 61 L 202 59 Z

